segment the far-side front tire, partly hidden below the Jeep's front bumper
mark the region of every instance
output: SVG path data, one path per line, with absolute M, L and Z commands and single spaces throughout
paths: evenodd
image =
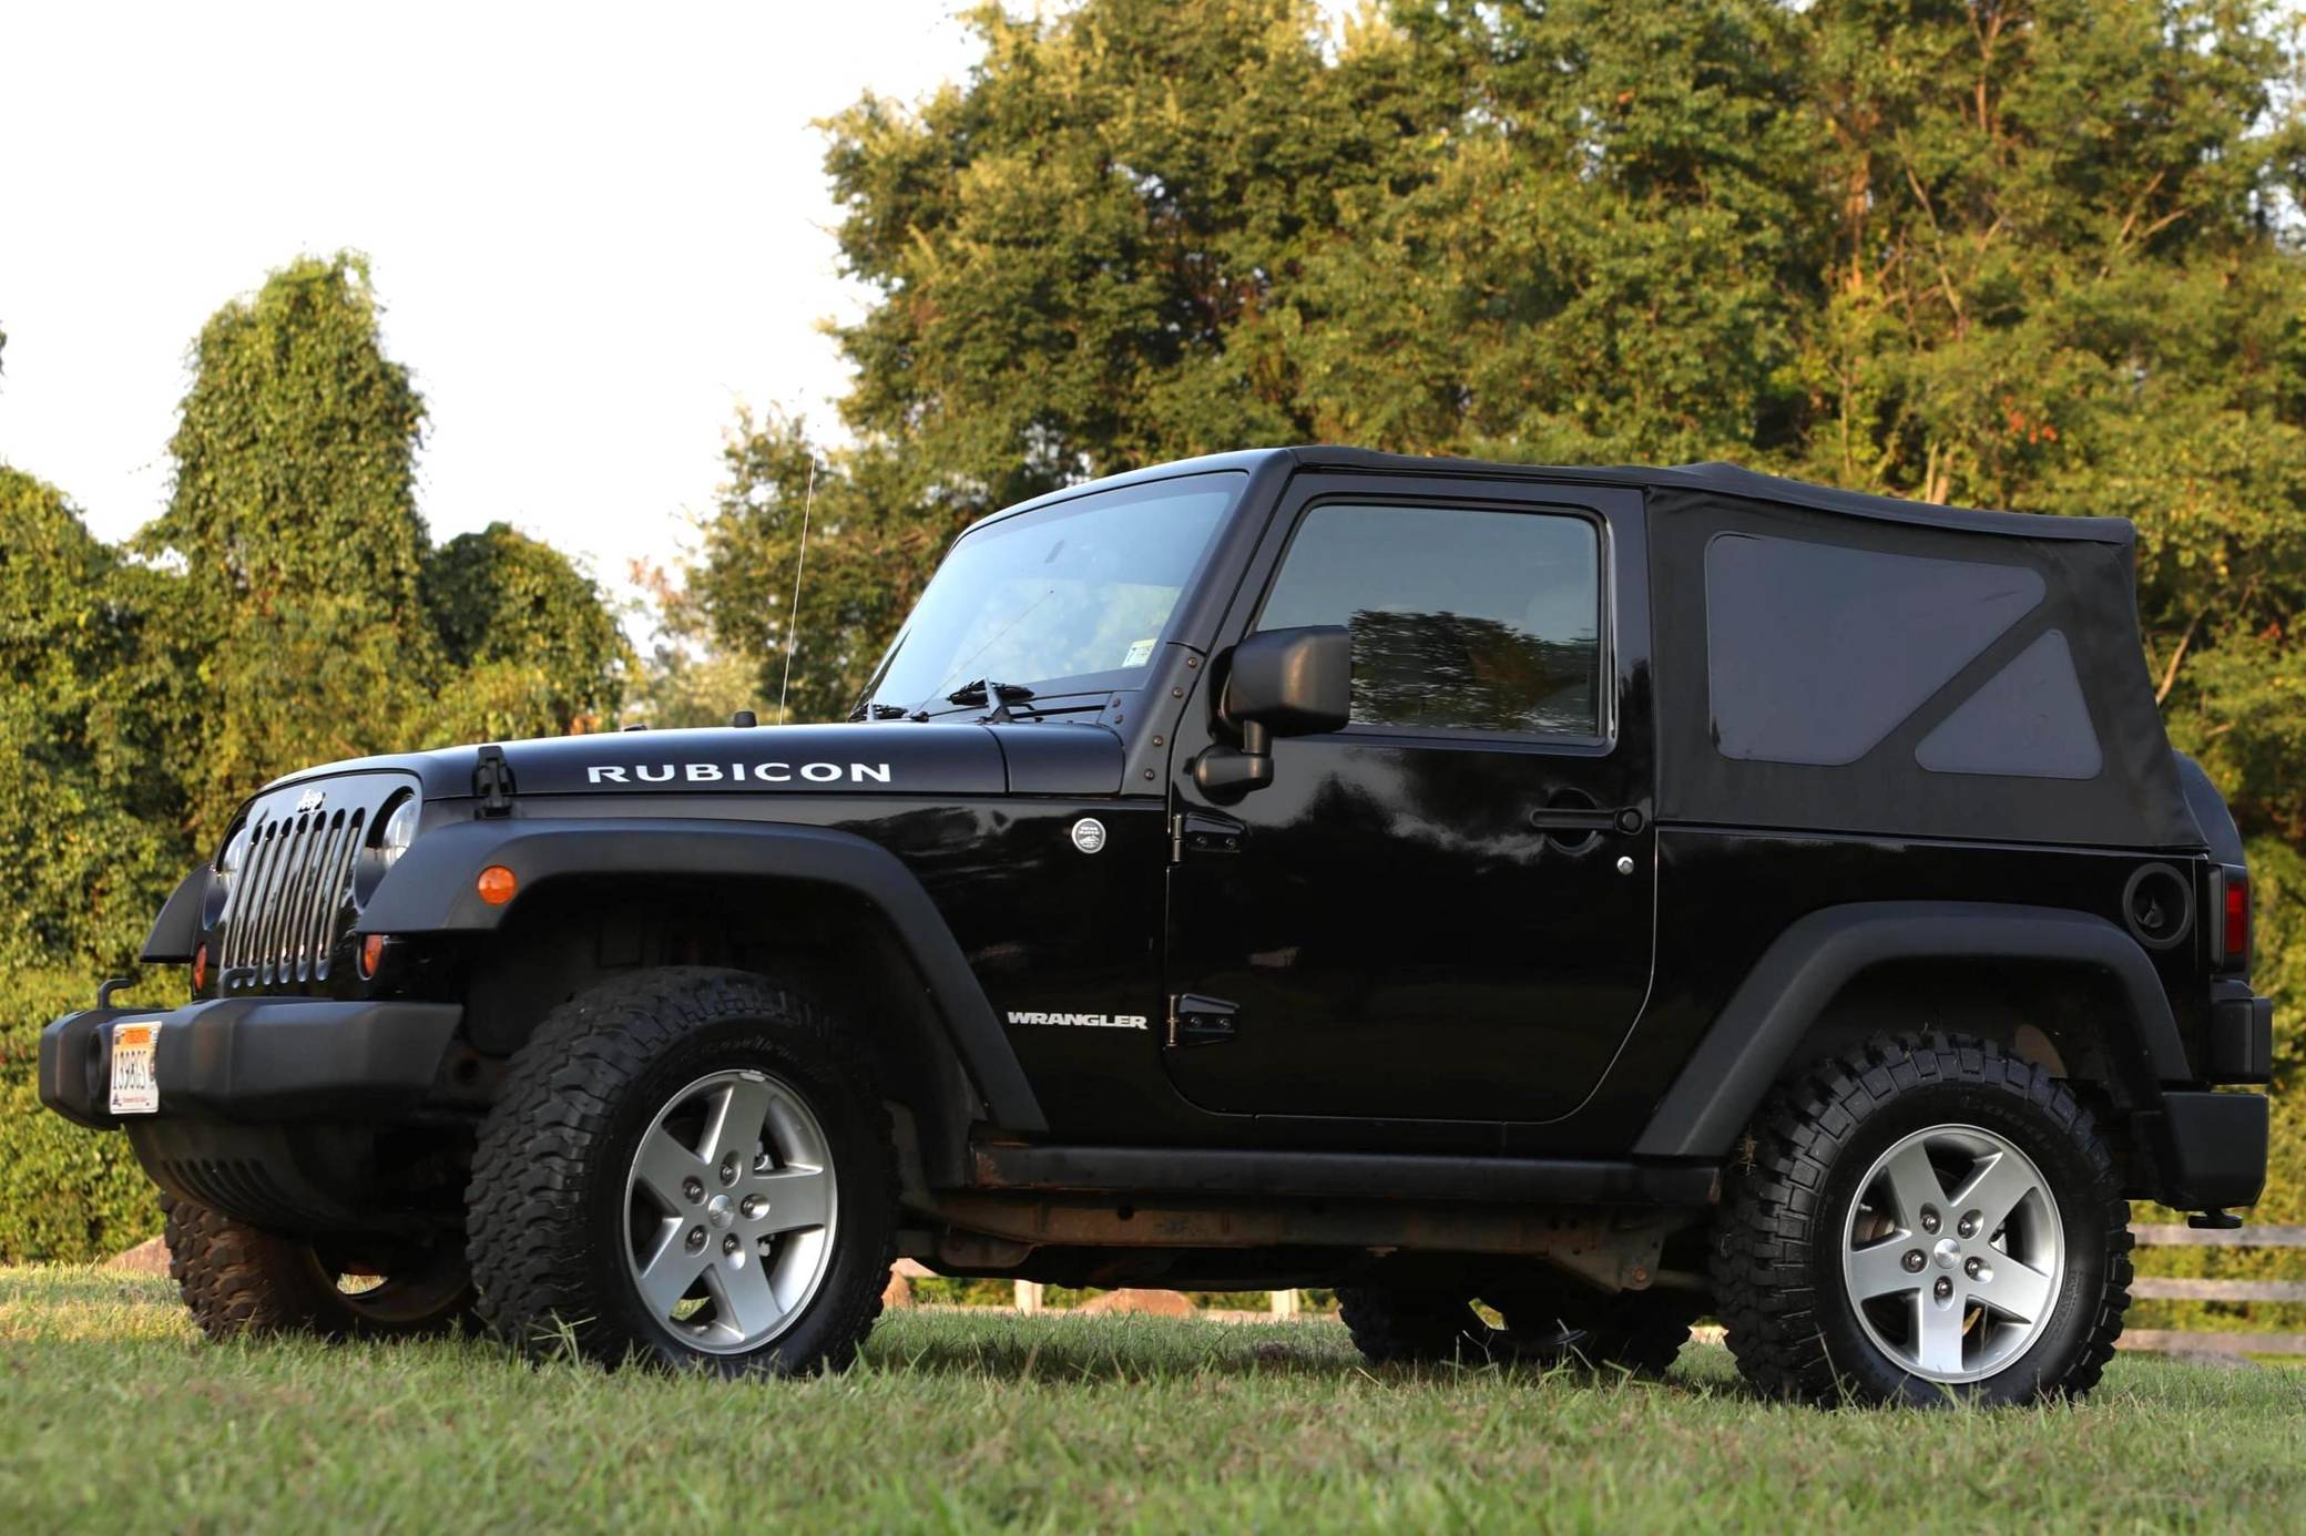
M 203 1204 L 161 1195 L 168 1278 L 212 1340 L 311 1333 L 427 1338 L 473 1326 L 473 1282 L 452 1241 L 415 1257 L 413 1273 L 346 1294 L 321 1252 Z

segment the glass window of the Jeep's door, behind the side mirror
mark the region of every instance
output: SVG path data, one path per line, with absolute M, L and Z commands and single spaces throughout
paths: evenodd
M 1259 630 L 1354 632 L 1354 724 L 1600 736 L 1600 535 L 1582 517 L 1319 505 Z

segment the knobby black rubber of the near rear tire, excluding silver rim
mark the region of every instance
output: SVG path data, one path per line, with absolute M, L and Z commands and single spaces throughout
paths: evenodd
M 2064 1278 L 2043 1333 L 1981 1381 L 1907 1375 L 1854 1317 L 1842 1222 L 1870 1162 L 1935 1123 L 1983 1125 L 2041 1169 L 2064 1227 Z M 2078 1398 L 2122 1335 L 2128 1202 L 2096 1119 L 2048 1068 L 1967 1036 L 1875 1038 L 1783 1084 L 1730 1169 L 1713 1232 L 1713 1298 L 1730 1351 L 1769 1398 L 1817 1405 L 1983 1405 Z

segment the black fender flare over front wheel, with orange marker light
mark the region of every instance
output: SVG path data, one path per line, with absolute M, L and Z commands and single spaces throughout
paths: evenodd
M 519 893 L 489 906 L 475 879 L 505 865 Z M 888 918 L 994 1123 L 1047 1130 L 985 987 L 913 872 L 881 844 L 814 826 L 625 816 L 461 821 L 424 833 L 378 883 L 357 934 L 489 934 L 528 893 L 574 874 L 736 876 L 851 890 Z

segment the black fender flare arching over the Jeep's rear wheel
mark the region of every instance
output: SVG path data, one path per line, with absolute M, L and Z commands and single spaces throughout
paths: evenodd
M 2103 971 L 2128 999 L 2122 1033 L 2135 1049 L 2135 1075 L 2154 1084 L 2193 1077 L 2154 962 L 2105 918 L 1995 902 L 1852 902 L 1813 911 L 1762 953 L 1658 1100 L 1635 1155 L 1730 1155 L 1810 1024 L 1849 980 L 1891 959 L 2041 959 Z

